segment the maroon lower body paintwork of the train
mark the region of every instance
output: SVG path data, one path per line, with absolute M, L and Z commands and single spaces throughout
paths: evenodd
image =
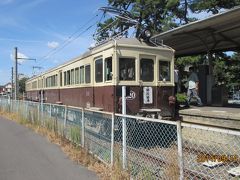
M 136 114 L 142 108 L 158 108 L 167 114 L 173 113 L 173 107 L 169 106 L 168 98 L 173 95 L 174 88 L 169 86 L 152 88 L 153 103 L 146 105 L 143 104 L 142 87 L 130 86 L 130 91 L 135 93 L 135 98 L 127 98 L 128 114 Z M 115 96 L 115 94 L 115 86 L 49 89 L 44 90 L 44 99 L 46 103 L 61 102 L 69 106 L 98 107 L 108 112 L 113 112 L 116 107 L 116 112 L 121 113 L 121 96 Z M 40 91 L 28 91 L 27 97 L 29 100 L 39 100 Z

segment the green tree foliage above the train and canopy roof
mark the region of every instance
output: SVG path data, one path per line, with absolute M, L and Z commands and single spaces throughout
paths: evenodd
M 108 0 L 109 7 L 127 10 L 131 13 L 131 18 L 137 20 L 136 37 L 139 37 L 143 29 L 149 29 L 153 34 L 160 33 L 196 20 L 191 18 L 190 14 L 216 14 L 221 9 L 229 9 L 239 4 L 240 0 Z M 126 20 L 110 17 L 98 23 L 94 38 L 96 41 L 107 39 L 132 25 Z M 125 32 L 124 35 L 128 36 L 128 33 Z

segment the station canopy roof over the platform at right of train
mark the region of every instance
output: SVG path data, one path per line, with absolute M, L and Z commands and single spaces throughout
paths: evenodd
M 240 7 L 152 37 L 175 49 L 176 57 L 240 50 Z

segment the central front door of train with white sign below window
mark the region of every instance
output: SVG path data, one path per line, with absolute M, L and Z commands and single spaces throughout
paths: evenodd
M 140 109 L 154 108 L 156 106 L 156 100 L 154 100 L 156 94 L 156 88 L 154 88 L 154 64 L 154 56 L 140 57 Z

